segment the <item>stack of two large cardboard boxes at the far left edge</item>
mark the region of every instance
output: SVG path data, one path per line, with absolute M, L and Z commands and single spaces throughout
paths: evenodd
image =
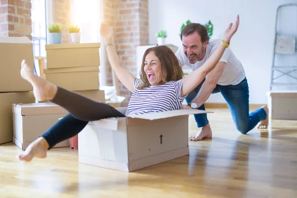
M 27 59 L 33 69 L 33 47 L 27 37 L 0 37 L 0 144 L 12 142 L 12 103 L 34 102 L 33 88 L 20 75 Z

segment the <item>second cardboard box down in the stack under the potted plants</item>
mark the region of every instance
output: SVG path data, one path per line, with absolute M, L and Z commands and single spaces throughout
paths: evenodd
M 70 91 L 99 90 L 99 66 L 44 69 L 46 79 Z

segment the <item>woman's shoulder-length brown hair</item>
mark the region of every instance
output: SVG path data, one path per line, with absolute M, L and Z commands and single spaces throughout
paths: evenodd
M 143 81 L 143 83 L 137 87 L 138 89 L 144 89 L 150 86 L 144 67 L 145 67 L 146 57 L 148 53 L 151 51 L 153 51 L 154 54 L 160 60 L 162 72 L 163 72 L 163 79 L 162 79 L 163 84 L 168 83 L 170 81 L 178 81 L 183 78 L 184 73 L 183 73 L 182 67 L 180 65 L 179 60 L 173 53 L 173 51 L 167 46 L 157 45 L 156 47 L 149 48 L 145 51 L 142 65 L 141 65 L 141 73 L 140 73 L 140 78 Z

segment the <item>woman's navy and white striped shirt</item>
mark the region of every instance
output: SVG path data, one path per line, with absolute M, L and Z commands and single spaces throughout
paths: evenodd
M 178 110 L 183 100 L 181 97 L 183 80 L 170 81 L 164 85 L 150 86 L 143 90 L 137 89 L 140 79 L 134 81 L 134 92 L 128 103 L 125 115 L 155 113 L 161 111 Z

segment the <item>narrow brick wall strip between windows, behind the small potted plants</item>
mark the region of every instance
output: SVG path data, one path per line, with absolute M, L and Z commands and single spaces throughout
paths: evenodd
M 70 0 L 53 0 L 52 21 L 61 22 L 62 25 L 70 23 Z M 70 43 L 69 33 L 66 30 L 62 34 L 62 43 Z

